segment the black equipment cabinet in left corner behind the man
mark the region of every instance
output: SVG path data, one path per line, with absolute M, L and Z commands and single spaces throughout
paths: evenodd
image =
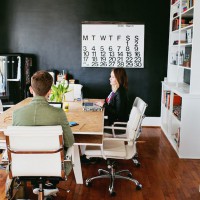
M 33 55 L 0 54 L 0 99 L 4 108 L 30 96 Z

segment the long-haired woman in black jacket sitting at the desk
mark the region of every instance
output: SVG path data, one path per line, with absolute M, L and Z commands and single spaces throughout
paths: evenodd
M 112 125 L 113 122 L 128 121 L 128 77 L 124 68 L 114 68 L 110 74 L 111 93 L 105 101 L 96 104 L 105 108 L 105 116 L 108 120 L 105 125 Z

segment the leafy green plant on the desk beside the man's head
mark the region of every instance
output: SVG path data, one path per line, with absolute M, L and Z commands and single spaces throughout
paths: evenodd
M 62 102 L 64 94 L 69 92 L 69 84 L 66 80 L 57 82 L 56 85 L 51 86 L 50 101 Z

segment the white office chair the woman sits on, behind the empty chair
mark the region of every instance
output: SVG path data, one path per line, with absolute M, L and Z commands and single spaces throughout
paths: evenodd
M 136 133 L 136 140 L 139 138 L 141 132 L 142 132 L 142 121 L 143 119 L 145 118 L 145 110 L 147 108 L 148 104 L 145 103 L 140 97 L 136 97 L 134 102 L 133 102 L 133 106 L 132 107 L 137 107 L 139 109 L 139 111 L 141 112 L 141 119 L 140 119 L 140 122 L 139 122 L 139 129 L 137 130 L 137 133 Z M 121 138 L 121 137 L 126 137 L 126 134 L 116 134 L 115 133 L 115 130 L 114 127 L 116 126 L 124 126 L 124 127 L 127 127 L 127 123 L 126 122 L 114 122 L 112 124 L 111 127 L 113 128 L 110 128 L 108 126 L 105 126 L 104 128 L 105 129 L 112 129 L 112 134 L 107 134 L 105 132 L 105 136 L 106 137 L 118 137 L 118 138 Z M 135 141 L 136 142 L 136 141 Z M 132 158 L 134 164 L 139 167 L 140 166 L 140 162 L 138 161 L 138 153 L 137 153 L 137 148 L 136 148 L 136 153 L 134 155 L 134 157 Z

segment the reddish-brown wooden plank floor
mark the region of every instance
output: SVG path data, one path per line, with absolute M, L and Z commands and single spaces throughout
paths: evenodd
M 116 180 L 117 195 L 110 197 L 109 180 L 95 180 L 92 187 L 76 185 L 73 172 L 66 182 L 58 186 L 60 192 L 55 200 L 200 200 L 200 160 L 179 159 L 160 128 L 143 128 L 139 138 L 138 153 L 140 168 L 131 160 L 119 161 L 120 169 L 129 169 L 143 185 L 135 190 L 135 185 L 126 180 Z M 84 180 L 95 176 L 98 168 L 105 168 L 105 162 L 82 165 Z M 0 199 L 4 200 L 5 171 L 0 170 Z M 29 189 L 29 199 L 37 199 Z

